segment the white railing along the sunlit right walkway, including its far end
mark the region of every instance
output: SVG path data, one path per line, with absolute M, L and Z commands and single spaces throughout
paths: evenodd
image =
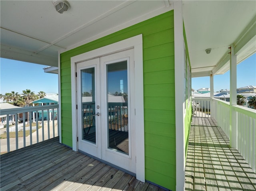
M 255 172 L 256 168 L 256 110 L 246 108 L 244 106 L 230 106 L 229 102 L 222 101 L 219 99 L 210 98 L 192 98 L 194 105 L 194 114 L 200 117 L 210 117 L 201 112 L 200 106 L 210 107 L 211 116 L 214 118 L 219 127 L 226 133 L 228 138 L 236 135 L 236 149 L 243 156 L 248 164 L 252 167 Z M 198 104 L 197 104 L 198 103 Z M 236 118 L 236 127 L 231 126 L 230 112 Z M 233 132 L 232 132 L 233 131 Z M 236 131 L 236 132 L 234 132 Z M 232 134 L 232 135 L 231 135 Z

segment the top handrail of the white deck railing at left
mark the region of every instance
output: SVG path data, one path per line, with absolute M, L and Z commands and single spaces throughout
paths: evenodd
M 59 104 L 53 104 L 53 105 L 22 107 L 22 108 L 12 108 L 12 109 L 0 109 L 0 114 L 7 115 L 7 114 L 15 114 L 15 113 L 24 113 L 24 112 L 31 112 L 31 111 L 38 111 L 38 110 L 54 109 L 58 107 L 59 107 Z

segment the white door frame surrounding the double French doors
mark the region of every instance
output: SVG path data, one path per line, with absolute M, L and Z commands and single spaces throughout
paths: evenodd
M 142 34 L 128 39 L 71 57 L 71 101 L 72 101 L 72 149 L 78 151 L 77 136 L 77 96 L 76 96 L 76 63 L 134 49 L 135 75 L 135 138 L 136 138 L 136 179 L 145 182 L 145 152 L 144 152 L 144 98 L 143 98 L 143 52 Z

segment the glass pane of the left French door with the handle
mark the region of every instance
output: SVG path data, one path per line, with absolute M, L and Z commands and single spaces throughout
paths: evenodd
M 82 139 L 96 144 L 94 74 L 94 68 L 81 70 Z

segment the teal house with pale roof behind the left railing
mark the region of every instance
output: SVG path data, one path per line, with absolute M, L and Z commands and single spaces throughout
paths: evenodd
M 39 105 L 52 105 L 52 104 L 58 104 L 59 97 L 58 95 L 46 95 L 44 98 L 40 98 L 37 100 L 32 101 L 33 104 L 39 104 Z M 54 109 L 54 115 L 52 115 L 52 111 L 50 111 L 49 120 L 57 119 L 58 111 L 57 109 Z M 36 113 L 33 113 L 33 122 L 36 120 Z M 48 120 L 47 110 L 44 110 L 44 114 L 42 116 L 42 110 L 38 111 L 38 120 Z

